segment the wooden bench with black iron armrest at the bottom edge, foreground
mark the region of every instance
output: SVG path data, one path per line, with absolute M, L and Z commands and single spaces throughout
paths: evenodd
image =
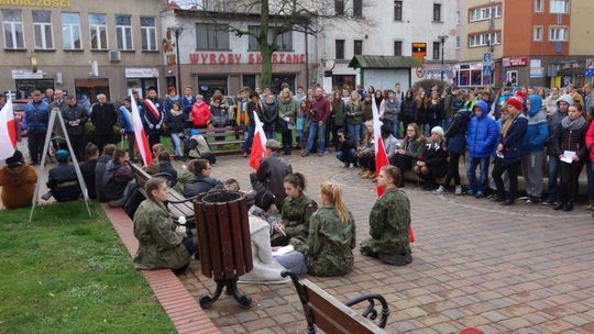
M 338 334 L 385 333 L 383 329 L 386 326 L 389 310 L 386 300 L 381 294 L 361 296 L 343 304 L 311 281 L 307 279 L 299 281 L 298 276 L 290 271 L 283 271 L 282 276 L 290 276 L 297 289 L 307 320 L 308 334 L 316 333 L 316 329 L 324 333 Z M 363 301 L 367 301 L 369 305 L 362 314 L 350 308 Z M 372 321 L 378 315 L 375 301 L 378 301 L 382 307 L 377 323 Z

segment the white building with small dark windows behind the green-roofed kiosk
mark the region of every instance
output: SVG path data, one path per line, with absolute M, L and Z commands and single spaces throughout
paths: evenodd
M 406 89 L 419 79 L 440 79 L 442 44 L 439 36 L 447 36 L 444 80 L 451 76 L 448 64 L 455 63 L 457 55 L 457 0 L 333 2 L 332 14 L 344 13 L 346 18 L 320 20 L 319 80 L 324 89 L 359 84 L 387 89 L 395 82 L 400 82 Z M 349 67 L 358 54 L 416 56 L 425 57 L 425 62 L 422 67 L 413 68 L 380 69 L 381 66 L 372 65 L 363 69 L 362 76 L 361 69 Z

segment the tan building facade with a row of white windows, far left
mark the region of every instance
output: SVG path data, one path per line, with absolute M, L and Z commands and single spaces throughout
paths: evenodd
M 95 101 L 166 86 L 161 0 L 2 1 L 0 90 L 63 89 Z M 29 1 L 26 4 L 33 4 Z

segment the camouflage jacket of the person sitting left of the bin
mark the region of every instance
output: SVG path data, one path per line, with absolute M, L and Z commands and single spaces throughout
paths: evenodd
M 184 234 L 174 231 L 169 213 L 162 203 L 146 199 L 140 204 L 134 213 L 134 236 L 139 240 L 134 256 L 138 269 L 178 269 L 190 260 L 182 244 Z

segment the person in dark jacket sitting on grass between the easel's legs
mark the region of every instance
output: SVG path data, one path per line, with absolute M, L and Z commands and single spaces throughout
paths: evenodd
M 65 149 L 56 152 L 58 165 L 50 169 L 47 188 L 58 202 L 76 201 L 80 197 L 80 185 L 76 176 L 76 169 L 68 164 L 70 155 Z

